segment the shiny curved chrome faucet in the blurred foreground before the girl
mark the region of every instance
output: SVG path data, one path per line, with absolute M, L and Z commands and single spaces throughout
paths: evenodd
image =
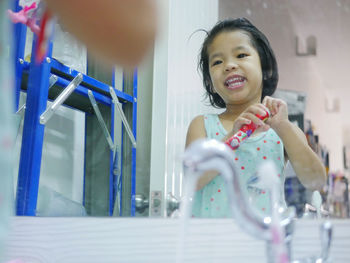
M 184 198 L 180 207 L 180 216 L 183 218 L 190 218 L 192 204 L 190 202 L 194 197 L 195 186 L 199 177 L 206 171 L 216 170 L 226 182 L 228 190 L 228 200 L 232 214 L 237 224 L 248 234 L 261 240 L 265 240 L 267 244 L 268 262 L 279 262 L 275 255 L 273 248 L 273 234 L 271 231 L 272 218 L 262 216 L 249 204 L 246 194 L 243 192 L 243 186 L 238 177 L 238 173 L 234 166 L 234 155 L 231 149 L 225 144 L 217 140 L 202 139 L 191 144 L 183 156 L 183 165 L 185 171 L 185 189 Z M 287 260 L 291 260 L 291 241 L 294 231 L 294 209 L 278 209 L 280 213 L 279 225 L 283 228 L 284 246 L 287 252 Z M 329 229 L 329 227 L 328 227 Z M 327 231 L 326 231 L 327 232 Z M 331 230 L 328 231 L 331 233 Z M 328 233 L 327 232 L 327 233 Z M 326 237 L 326 235 L 323 235 Z M 331 237 L 331 235 L 328 235 Z M 325 239 L 323 247 L 330 247 L 330 238 Z M 308 262 L 328 262 L 328 252 L 321 256 L 322 261 L 308 261 Z M 320 260 L 320 259 L 318 259 Z M 306 261 L 295 261 L 306 262 Z

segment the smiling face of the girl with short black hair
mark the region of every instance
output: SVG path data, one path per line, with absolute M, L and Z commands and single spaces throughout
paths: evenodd
M 214 90 L 226 105 L 260 103 L 261 63 L 249 33 L 219 33 L 208 47 L 208 57 Z

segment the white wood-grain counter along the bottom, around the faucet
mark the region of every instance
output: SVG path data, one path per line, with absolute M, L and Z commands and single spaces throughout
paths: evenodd
M 319 255 L 321 221 L 298 220 L 296 258 Z M 350 262 L 350 220 L 332 220 L 333 262 Z M 24 263 L 175 262 L 178 219 L 13 217 L 5 259 Z M 184 262 L 266 262 L 265 243 L 232 219 L 192 219 Z M 6 262 L 6 261 L 5 261 Z

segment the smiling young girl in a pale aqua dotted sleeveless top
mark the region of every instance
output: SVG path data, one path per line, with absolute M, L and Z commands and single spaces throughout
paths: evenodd
M 284 166 L 291 162 L 303 185 L 321 189 L 325 168 L 308 146 L 304 133 L 288 120 L 287 105 L 270 97 L 277 86 L 274 53 L 263 33 L 247 19 L 219 22 L 203 43 L 199 67 L 210 103 L 225 110 L 200 115 L 189 126 L 186 147 L 200 138 L 229 140 L 244 124 L 257 125 L 255 132 L 235 150 L 232 160 L 247 190 L 248 200 L 263 214 L 270 213 L 269 193 L 254 183 L 262 162 L 274 162 L 284 185 Z M 263 122 L 256 114 L 270 111 Z M 208 172 L 197 183 L 194 217 L 230 216 L 225 183 L 216 172 Z M 284 191 L 281 189 L 281 203 Z

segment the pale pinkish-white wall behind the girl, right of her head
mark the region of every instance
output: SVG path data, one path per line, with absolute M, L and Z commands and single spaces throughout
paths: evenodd
M 305 118 L 312 120 L 320 143 L 330 152 L 330 169 L 343 170 L 343 128 L 350 127 L 350 1 L 220 0 L 220 19 L 247 17 L 271 42 L 279 64 L 278 89 L 305 91 Z M 317 56 L 297 57 L 296 39 L 314 35 Z M 340 112 L 326 101 L 340 99 Z

